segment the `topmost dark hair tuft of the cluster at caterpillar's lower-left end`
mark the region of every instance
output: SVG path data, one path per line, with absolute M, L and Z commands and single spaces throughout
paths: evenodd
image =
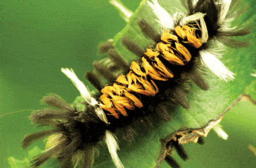
M 55 95 L 53 93 L 49 93 L 47 96 L 44 96 L 41 100 L 42 103 L 46 103 L 49 106 L 54 108 L 59 108 L 62 110 L 73 111 L 73 107 L 64 101 L 59 95 Z

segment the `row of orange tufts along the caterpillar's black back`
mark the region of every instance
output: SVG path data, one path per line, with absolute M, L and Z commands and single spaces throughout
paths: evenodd
M 162 56 L 172 65 L 186 65 L 191 60 L 191 53 L 181 44 L 187 43 L 194 48 L 201 47 L 201 40 L 197 37 L 193 26 L 177 26 L 174 30 L 177 36 L 166 30 L 161 35 L 161 40 L 156 44 L 156 50 L 148 48 L 141 58 L 142 63 L 132 62 L 129 73 L 119 75 L 113 86 L 106 85 L 100 96 L 101 106 L 115 118 L 119 115 L 127 116 L 127 110 L 134 110 L 135 107 L 142 108 L 139 96 L 155 96 L 159 88 L 154 81 L 168 81 L 173 74 L 160 60 Z M 143 67 L 143 70 L 141 70 Z

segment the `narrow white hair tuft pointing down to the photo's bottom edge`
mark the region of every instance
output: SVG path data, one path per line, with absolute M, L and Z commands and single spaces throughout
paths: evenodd
M 109 151 L 116 167 L 124 168 L 123 164 L 121 163 L 121 161 L 117 155 L 117 150 L 119 150 L 119 145 L 117 144 L 115 135 L 112 132 L 110 132 L 109 130 L 106 130 L 105 142 L 106 142 L 106 145 L 108 146 L 108 151 Z

